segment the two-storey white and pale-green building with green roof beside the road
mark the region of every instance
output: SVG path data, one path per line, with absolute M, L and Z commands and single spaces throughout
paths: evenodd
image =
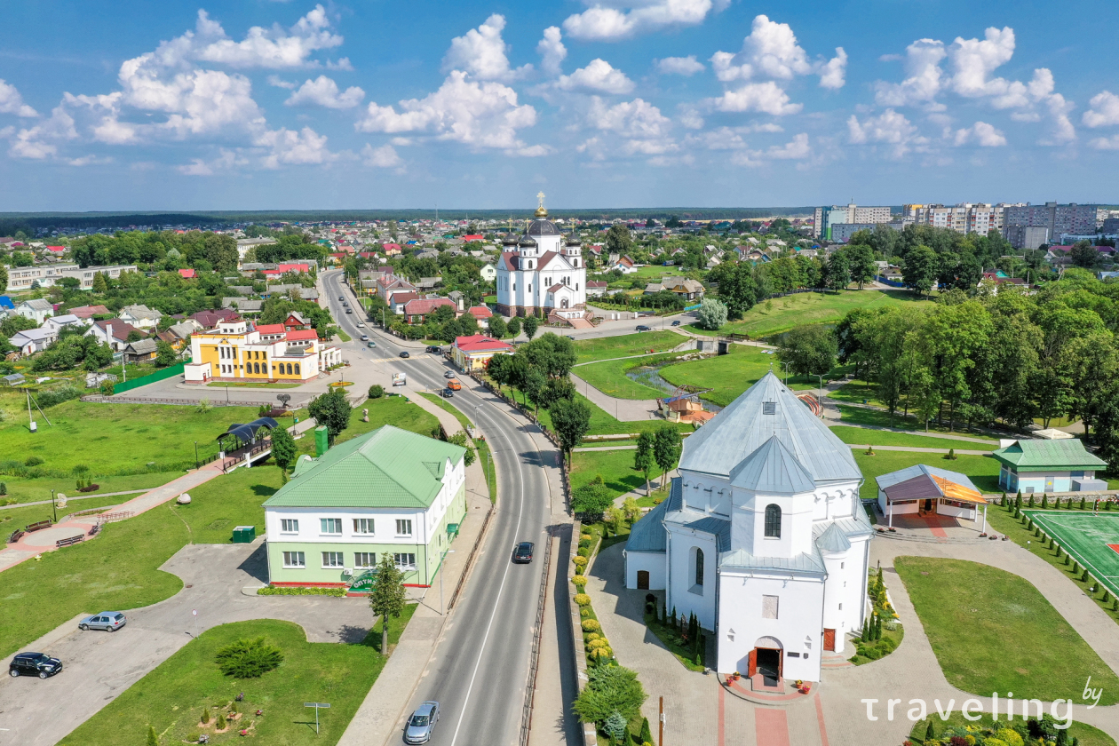
M 389 553 L 427 586 L 467 512 L 466 451 L 385 425 L 302 456 L 264 502 L 269 582 L 367 591 Z

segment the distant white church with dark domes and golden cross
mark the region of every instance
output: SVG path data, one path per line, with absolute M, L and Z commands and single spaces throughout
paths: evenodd
M 506 317 L 586 315 L 586 266 L 574 234 L 564 236 L 548 220 L 544 195 L 523 235 L 510 234 L 497 263 L 497 312 Z

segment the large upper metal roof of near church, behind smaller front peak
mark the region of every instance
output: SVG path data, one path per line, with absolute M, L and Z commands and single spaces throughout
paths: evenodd
M 730 478 L 772 437 L 814 482 L 861 480 L 862 472 L 840 441 L 772 371 L 684 442 L 679 468 Z

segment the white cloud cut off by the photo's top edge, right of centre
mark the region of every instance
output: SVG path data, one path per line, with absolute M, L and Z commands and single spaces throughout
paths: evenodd
M 576 39 L 617 41 L 666 27 L 695 26 L 708 13 L 723 10 L 728 0 L 631 0 L 595 2 L 563 22 Z

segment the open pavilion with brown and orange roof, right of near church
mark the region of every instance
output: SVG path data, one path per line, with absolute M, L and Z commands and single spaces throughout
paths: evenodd
M 987 501 L 965 474 L 916 464 L 882 474 L 878 483 L 878 508 L 894 526 L 894 513 L 919 516 L 952 516 L 976 520 L 982 506 L 980 533 L 987 530 Z

